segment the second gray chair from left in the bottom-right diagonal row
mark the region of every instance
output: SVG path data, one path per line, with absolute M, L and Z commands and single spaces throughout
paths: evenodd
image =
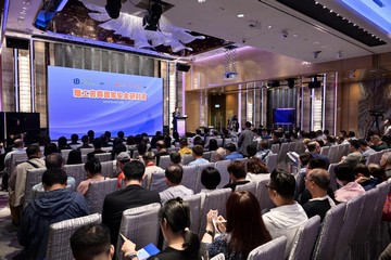
M 308 219 L 297 232 L 289 255 L 289 260 L 311 259 L 316 237 L 319 234 L 320 217 L 314 216 Z

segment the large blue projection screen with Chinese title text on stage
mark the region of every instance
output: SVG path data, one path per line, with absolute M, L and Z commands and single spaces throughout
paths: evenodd
M 72 133 L 125 135 L 163 129 L 161 78 L 48 66 L 51 139 Z

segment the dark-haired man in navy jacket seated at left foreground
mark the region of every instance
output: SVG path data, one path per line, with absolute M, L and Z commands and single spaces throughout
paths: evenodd
M 46 192 L 27 205 L 17 231 L 17 240 L 24 246 L 22 255 L 26 259 L 45 259 L 51 224 L 89 213 L 84 196 L 65 188 L 64 169 L 46 170 L 42 183 Z

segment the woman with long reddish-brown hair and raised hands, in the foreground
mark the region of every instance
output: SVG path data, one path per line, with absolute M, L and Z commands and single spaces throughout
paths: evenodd
M 216 238 L 212 222 L 215 211 L 210 210 L 206 216 L 202 242 L 207 244 L 211 258 L 223 252 L 227 260 L 244 260 L 252 249 L 272 240 L 262 220 L 260 203 L 252 193 L 234 192 L 227 199 L 226 209 L 227 221 L 222 216 L 216 219 L 218 231 L 215 233 L 222 232 Z

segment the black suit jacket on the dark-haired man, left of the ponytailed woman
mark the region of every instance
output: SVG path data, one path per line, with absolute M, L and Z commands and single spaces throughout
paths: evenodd
M 102 223 L 110 230 L 111 244 L 116 245 L 124 210 L 160 202 L 159 193 L 146 190 L 140 185 L 128 185 L 108 194 L 103 203 Z

